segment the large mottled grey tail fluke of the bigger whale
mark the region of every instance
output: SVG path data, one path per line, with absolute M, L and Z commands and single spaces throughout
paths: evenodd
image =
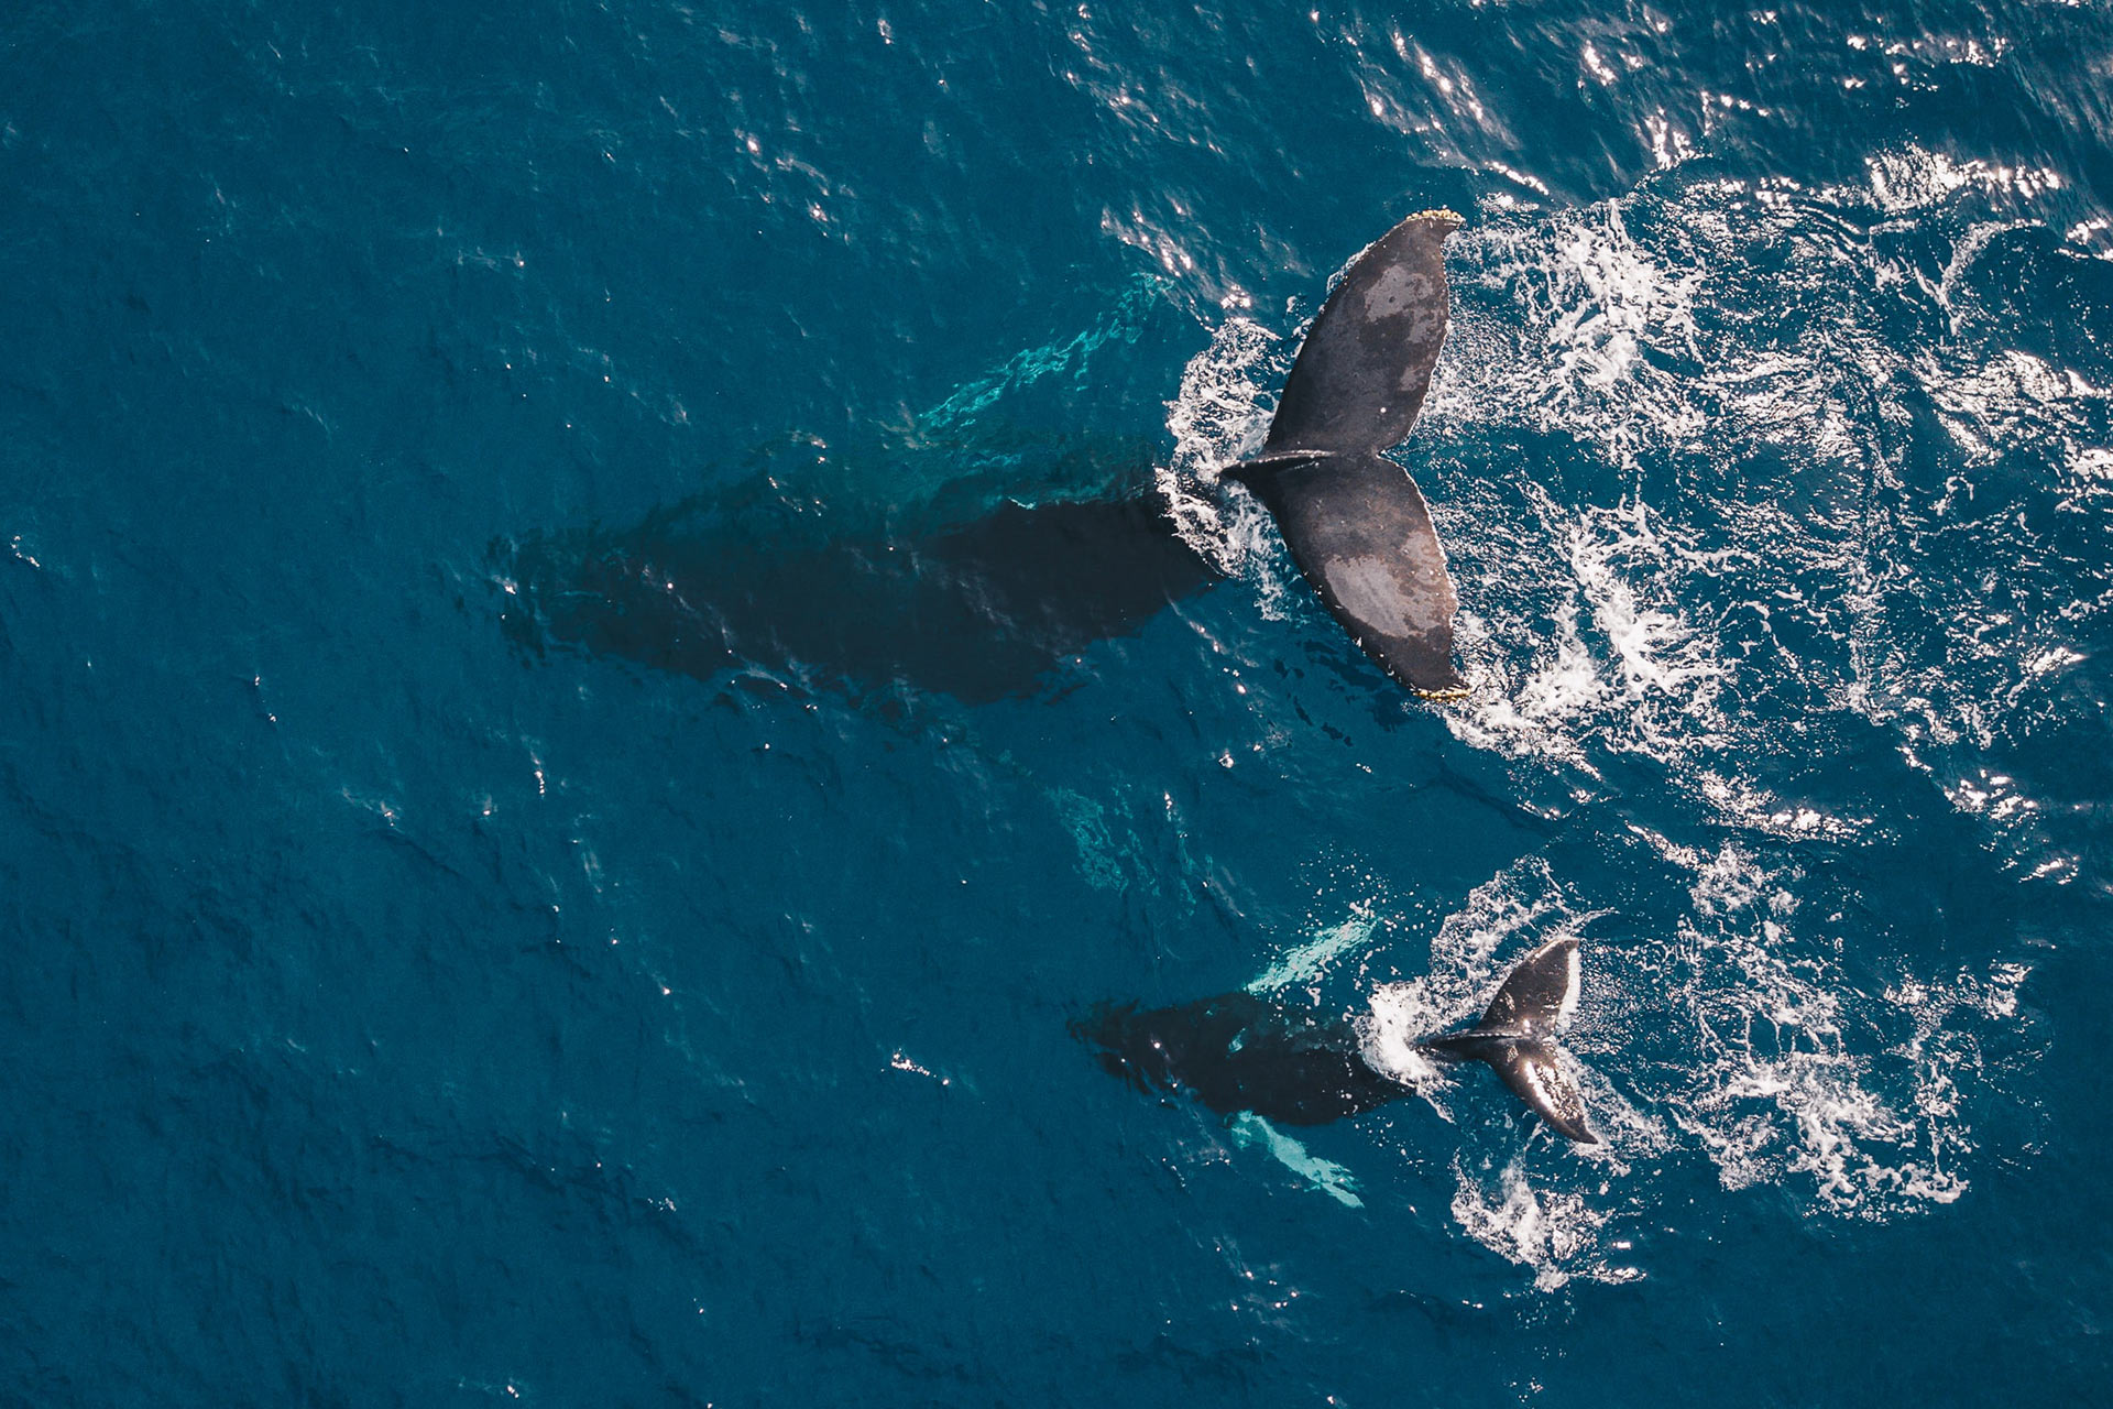
M 1409 471 L 1382 450 L 1424 408 L 1445 344 L 1452 211 L 1420 211 L 1344 273 L 1321 308 L 1261 454 L 1228 473 L 1283 528 L 1291 558 L 1365 655 L 1424 699 L 1458 699 L 1458 598 Z

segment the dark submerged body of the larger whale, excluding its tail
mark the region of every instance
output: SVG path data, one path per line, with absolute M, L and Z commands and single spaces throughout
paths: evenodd
M 860 530 L 845 518 L 765 475 L 621 532 L 494 543 L 501 619 L 535 655 L 989 703 L 1044 689 L 1092 642 L 1219 581 L 1158 501 L 1126 488 L 1002 499 L 966 522 Z

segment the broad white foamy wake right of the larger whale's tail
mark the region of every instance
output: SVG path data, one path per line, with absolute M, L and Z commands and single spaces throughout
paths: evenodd
M 1454 332 L 1405 452 L 1477 682 L 1447 727 L 1587 782 L 1644 754 L 1728 822 L 1840 832 L 1859 822 L 1785 818 L 1726 760 L 1857 714 L 2022 870 L 2071 875 L 1986 760 L 2052 720 L 2113 610 L 2075 600 L 2096 564 L 2060 528 L 2113 507 L 2113 378 L 2012 346 L 2035 330 L 1976 302 L 2033 224 L 2028 175 L 1908 148 L 1859 188 L 1667 182 L 1454 237 Z M 1813 207 L 1891 215 L 1893 239 Z M 1933 319 L 1952 336 L 1902 336 Z M 1910 454 L 1931 427 L 1946 444 Z

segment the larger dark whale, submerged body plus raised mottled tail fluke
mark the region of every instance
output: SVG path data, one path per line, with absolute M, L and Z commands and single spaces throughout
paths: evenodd
M 1350 638 L 1428 699 L 1464 691 L 1454 589 L 1422 494 L 1380 452 L 1407 435 L 1431 384 L 1447 323 L 1443 243 L 1458 224 L 1450 211 L 1409 215 L 1350 264 L 1306 334 L 1261 454 L 1226 471 L 1276 518 Z M 630 530 L 494 543 L 505 630 L 532 653 L 571 646 L 699 678 L 750 670 L 778 684 L 987 703 L 1035 691 L 1095 640 L 1219 581 L 1145 490 L 1147 448 L 1073 446 L 1035 461 L 1054 492 L 1033 505 L 989 484 L 989 467 L 1027 465 L 1016 437 L 970 437 L 961 452 L 987 465 L 980 482 L 966 475 L 974 492 L 913 513 L 833 509 L 799 475 L 767 469 Z

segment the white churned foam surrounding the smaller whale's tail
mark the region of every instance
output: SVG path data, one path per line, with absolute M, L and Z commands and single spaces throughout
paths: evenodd
M 1483 1117 L 1490 1090 L 1456 1101 L 1447 1071 L 1416 1052 L 1473 1022 L 1530 946 L 1597 917 L 1545 860 L 1475 889 L 1433 940 L 1428 974 L 1373 993 L 1367 1060 L 1460 1124 L 1460 1229 L 1553 1289 L 1644 1274 L 1631 1244 L 1661 1217 L 1661 1172 L 1684 1156 L 1707 1160 L 1724 1189 L 1777 1187 L 1830 1217 L 1957 1200 L 1976 1147 L 1967 1105 L 1988 1094 L 1984 1048 L 2018 1044 L 2026 967 L 1900 976 L 1866 993 L 1832 942 L 1802 934 L 1794 868 L 1737 845 L 1646 841 L 1688 872 L 1690 915 L 1665 938 L 1585 946 L 1587 1001 L 1564 1052 L 1604 1145 Z

